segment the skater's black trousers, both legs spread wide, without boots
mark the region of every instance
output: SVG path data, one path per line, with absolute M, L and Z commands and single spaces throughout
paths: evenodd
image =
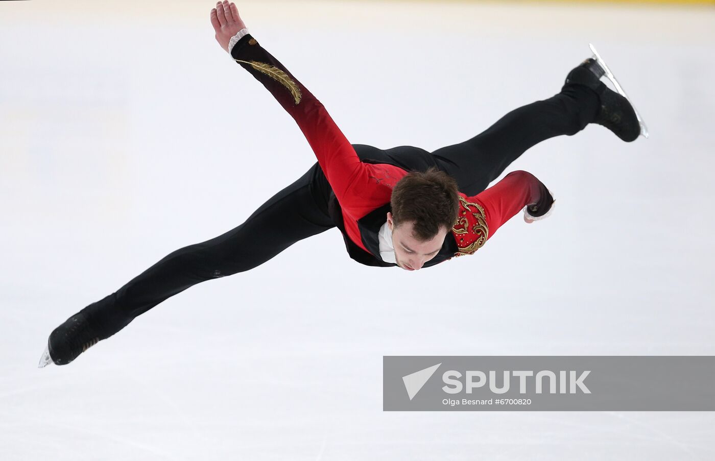
M 485 132 L 431 154 L 417 147 L 382 150 L 363 144 L 356 144 L 355 151 L 361 159 L 389 162 L 406 170 L 436 166 L 457 180 L 460 192 L 475 195 L 534 144 L 579 132 L 593 121 L 599 107 L 591 89 L 566 85 L 556 96 L 511 111 Z M 316 163 L 240 226 L 167 254 L 83 312 L 104 339 L 194 284 L 257 267 L 295 242 L 335 227 L 327 212 L 330 192 Z

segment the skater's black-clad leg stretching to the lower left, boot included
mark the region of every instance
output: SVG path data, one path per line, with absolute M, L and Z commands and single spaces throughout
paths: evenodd
M 295 242 L 334 227 L 327 214 L 329 194 L 327 179 L 315 164 L 240 226 L 206 242 L 177 249 L 117 292 L 82 309 L 79 320 L 87 323 L 86 328 L 91 330 L 87 338 L 105 339 L 137 315 L 194 284 L 257 267 Z M 64 330 L 60 333 L 60 337 L 66 336 Z M 86 348 L 80 347 L 77 351 L 77 345 L 63 344 L 53 339 L 53 335 L 57 337 L 58 334 L 53 332 L 50 336 L 50 354 L 54 362 L 59 360 L 59 365 L 69 363 Z M 84 339 L 79 343 L 86 342 Z M 67 354 L 69 360 L 61 360 L 61 356 Z

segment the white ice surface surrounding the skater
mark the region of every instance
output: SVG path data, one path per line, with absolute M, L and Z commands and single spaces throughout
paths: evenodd
M 715 459 L 712 412 L 382 410 L 383 355 L 715 355 L 713 7 L 238 3 L 356 144 L 463 141 L 589 42 L 651 138 L 531 149 L 507 171 L 553 217 L 472 257 L 364 267 L 333 229 L 37 369 L 69 315 L 314 162 L 212 6 L 0 1 L 0 460 Z

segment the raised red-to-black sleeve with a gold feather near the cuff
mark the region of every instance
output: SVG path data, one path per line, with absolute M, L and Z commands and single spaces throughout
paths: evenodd
M 402 169 L 360 162 L 320 101 L 250 34 L 238 41 L 231 56 L 295 119 L 344 214 L 360 219 L 390 201 L 395 182 L 405 175 Z

